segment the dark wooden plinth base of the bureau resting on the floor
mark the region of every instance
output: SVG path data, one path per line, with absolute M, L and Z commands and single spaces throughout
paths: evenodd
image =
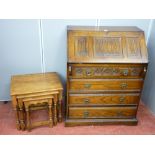
M 136 118 L 132 119 L 66 119 L 65 127 L 84 125 L 137 125 Z

